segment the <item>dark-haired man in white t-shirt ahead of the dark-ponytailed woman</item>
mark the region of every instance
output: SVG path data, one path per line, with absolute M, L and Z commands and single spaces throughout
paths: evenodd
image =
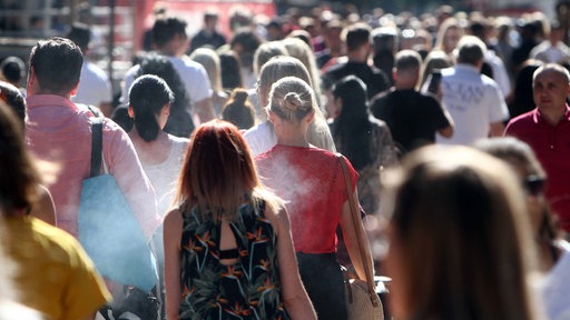
M 185 56 L 188 48 L 187 23 L 178 18 L 165 18 L 155 21 L 153 41 L 156 51 L 168 58 L 184 82 L 194 108 L 190 114 L 194 120 L 206 122 L 215 118 L 212 107 L 212 86 L 206 69 Z M 125 76 L 121 101 L 128 102 L 128 91 L 135 80 L 139 66 L 135 66 Z M 196 123 L 198 124 L 198 123 Z

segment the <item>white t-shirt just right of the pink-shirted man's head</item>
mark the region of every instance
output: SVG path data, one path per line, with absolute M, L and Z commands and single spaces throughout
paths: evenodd
M 79 87 L 71 101 L 99 107 L 112 102 L 112 89 L 109 77 L 97 64 L 83 59 Z

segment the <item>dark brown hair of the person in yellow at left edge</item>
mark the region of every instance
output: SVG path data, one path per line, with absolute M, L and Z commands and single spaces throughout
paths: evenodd
M 0 101 L 0 211 L 30 209 L 39 173 L 28 152 L 21 120 Z

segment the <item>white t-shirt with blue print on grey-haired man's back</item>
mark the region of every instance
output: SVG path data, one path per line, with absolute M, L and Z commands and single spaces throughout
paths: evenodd
M 441 73 L 442 103 L 455 128 L 451 138 L 438 134 L 438 143 L 470 146 L 489 136 L 491 123 L 509 119 L 501 89 L 475 67 L 458 64 Z

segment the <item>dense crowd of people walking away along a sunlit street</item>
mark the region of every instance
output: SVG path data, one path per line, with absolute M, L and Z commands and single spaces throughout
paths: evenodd
M 570 319 L 558 21 L 160 12 L 116 99 L 83 24 L 0 63 L 1 319 L 347 319 L 368 268 L 385 319 Z M 79 241 L 96 119 L 148 292 Z

